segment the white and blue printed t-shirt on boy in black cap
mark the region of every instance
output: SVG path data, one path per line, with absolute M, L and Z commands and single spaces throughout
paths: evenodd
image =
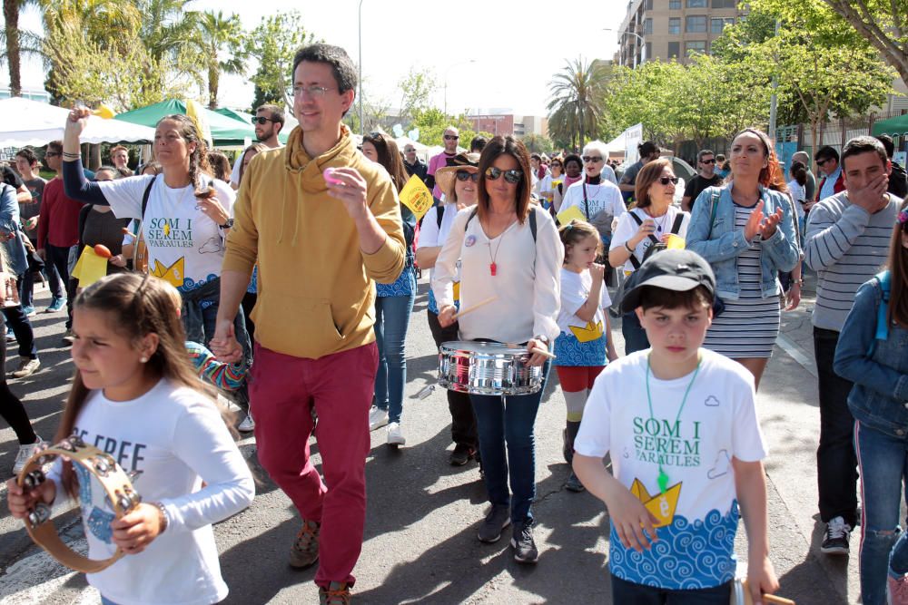
M 735 576 L 738 506 L 732 459 L 756 462 L 766 445 L 756 419 L 754 377 L 731 359 L 701 348 L 693 373 L 658 380 L 646 396 L 649 350 L 610 364 L 597 377 L 574 442 L 577 454 L 611 452 L 613 473 L 666 523 L 649 551 L 626 549 L 614 525 L 609 569 L 618 578 L 665 589 L 712 588 Z M 658 486 L 659 464 L 669 477 Z M 647 507 L 649 508 L 649 507 Z

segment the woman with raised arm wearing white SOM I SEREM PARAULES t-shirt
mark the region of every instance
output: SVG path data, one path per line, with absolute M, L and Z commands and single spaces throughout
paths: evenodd
M 195 122 L 183 114 L 165 116 L 155 126 L 154 157 L 163 168 L 162 174 L 86 181 L 79 136 L 89 114 L 85 108 L 76 108 L 66 121 L 66 195 L 109 205 L 117 218 L 142 221 L 149 273 L 179 290 L 186 336 L 207 345 L 214 336 L 224 243 L 233 225 L 233 190 L 208 174 L 205 141 Z M 234 329 L 251 364 L 252 349 L 242 312 L 237 314 Z

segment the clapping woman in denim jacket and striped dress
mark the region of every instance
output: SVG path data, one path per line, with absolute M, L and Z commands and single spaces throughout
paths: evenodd
M 801 256 L 792 204 L 775 148 L 765 132 L 746 128 L 732 141 L 731 174 L 723 187 L 697 197 L 687 249 L 716 272 L 716 296 L 725 309 L 713 319 L 703 346 L 735 359 L 760 378 L 779 334 L 783 294 L 779 271 Z

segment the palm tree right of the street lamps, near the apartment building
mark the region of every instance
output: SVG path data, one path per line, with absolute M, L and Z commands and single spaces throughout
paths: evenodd
M 583 147 L 587 133 L 596 132 L 601 113 L 609 73 L 606 66 L 597 60 L 586 63 L 582 58 L 568 61 L 565 68 L 556 73 L 548 90 L 549 120 L 555 122 L 558 135 L 570 141 L 577 139 L 577 147 Z M 551 126 L 549 126 L 551 127 Z

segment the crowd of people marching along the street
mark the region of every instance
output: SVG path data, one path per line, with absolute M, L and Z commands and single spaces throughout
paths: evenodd
M 23 517 L 36 503 L 82 501 L 91 555 L 130 555 L 89 574 L 105 604 L 226 596 L 212 523 L 248 506 L 254 484 L 204 385 L 240 405 L 239 430 L 254 431 L 259 462 L 300 513 L 290 565 L 318 563 L 321 602 L 350 602 L 370 431 L 407 444 L 406 345 L 423 269 L 436 345 L 519 346 L 542 376 L 519 395 L 448 391 L 449 464 L 476 460 L 489 500 L 480 542 L 510 527 L 514 559 L 538 560 L 535 424 L 554 366 L 566 486 L 607 505 L 615 602 L 727 603 L 741 516 L 759 600 L 778 581 L 755 395 L 804 266 L 818 279 L 821 551 L 846 554 L 861 523 L 864 603 L 887 592 L 908 603 L 908 544 L 893 530 L 906 474 L 908 182 L 891 140 L 817 150 L 817 181 L 809 156 L 786 174 L 771 139 L 747 128 L 727 161 L 697 154 L 678 205 L 679 180 L 653 141 L 618 177 L 601 141 L 544 157 L 514 137 L 478 137 L 465 151 L 450 127 L 427 163 L 380 132 L 358 148 L 342 122 L 357 76 L 341 48 L 301 48 L 292 73 L 299 127 L 281 146 L 284 114 L 263 105 L 259 141 L 232 167 L 191 118 L 170 115 L 153 162 L 133 172 L 117 146 L 113 165 L 88 173 L 89 111 L 74 109 L 44 153 L 56 178 L 41 181 L 25 149 L 22 185 L 3 185 L 14 376 L 40 366 L 29 317 L 44 271 L 77 369 L 54 440 L 113 439 L 118 462 L 143 473 L 144 498 L 114 518 L 86 496 L 87 475 L 58 463 L 38 488 L 11 480 L 9 505 Z M 436 198 L 421 220 L 400 202 L 412 175 Z M 558 220 L 571 209 L 583 220 Z M 82 289 L 72 269 L 95 244 L 111 251 L 108 276 Z M 5 381 L 0 412 L 20 443 L 17 472 L 42 440 Z

